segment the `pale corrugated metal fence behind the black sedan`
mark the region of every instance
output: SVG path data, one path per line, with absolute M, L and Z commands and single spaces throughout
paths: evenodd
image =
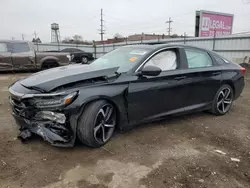
M 94 57 L 99 58 L 107 52 L 110 52 L 116 48 L 125 45 L 136 45 L 145 43 L 176 43 L 176 44 L 188 44 L 213 50 L 224 56 L 227 59 L 235 61 L 237 63 L 243 62 L 245 57 L 250 56 L 250 35 L 231 35 L 224 37 L 206 37 L 206 38 L 175 38 L 175 39 L 158 39 L 158 40 L 146 40 L 146 41 L 126 41 L 114 44 L 104 45 L 79 45 L 79 44 L 51 44 L 40 43 L 36 44 L 36 48 L 39 51 L 49 50 L 62 50 L 64 48 L 78 48 L 86 52 L 91 52 Z M 248 58 L 249 59 L 249 58 Z

